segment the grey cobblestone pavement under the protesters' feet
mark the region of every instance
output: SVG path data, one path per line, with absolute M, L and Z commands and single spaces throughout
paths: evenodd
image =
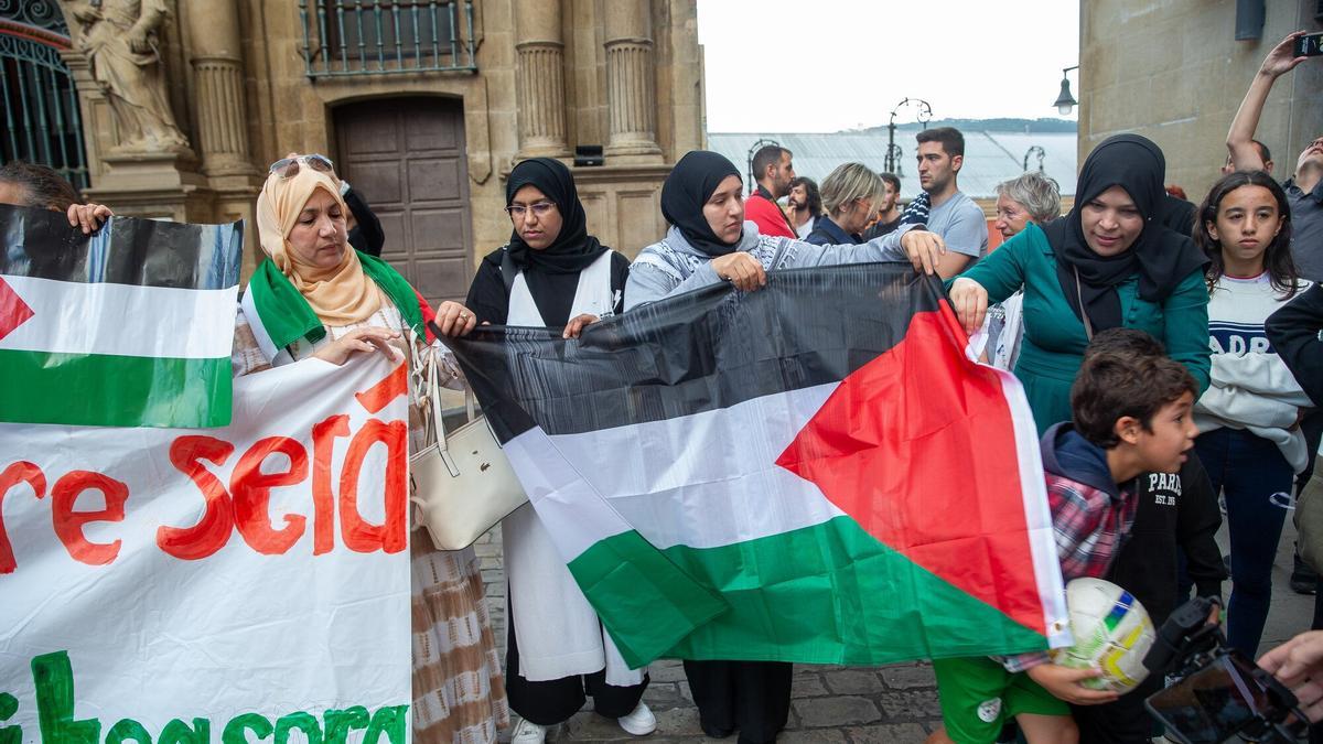
M 1221 541 L 1225 549 L 1225 526 Z M 1263 631 L 1266 650 L 1308 628 L 1314 598 L 1294 594 L 1287 588 L 1291 545 L 1295 531 L 1287 520 L 1273 569 L 1273 612 Z M 482 559 L 483 581 L 491 606 L 496 637 L 505 638 L 505 575 L 500 559 L 500 531 L 484 535 L 475 548 Z M 1230 585 L 1224 585 L 1224 592 Z M 504 650 L 503 650 L 504 655 Z M 664 661 L 651 666 L 652 683 L 643 699 L 658 716 L 658 731 L 646 744 L 717 743 L 733 744 L 734 739 L 714 740 L 699 728 L 699 711 L 680 662 Z M 591 707 L 591 702 L 589 702 Z M 790 723 L 778 739 L 781 743 L 919 743 L 941 724 L 937 706 L 937 683 L 931 666 L 908 663 L 882 667 L 833 667 L 795 665 L 791 688 Z M 508 740 L 509 731 L 503 740 Z M 632 741 L 614 720 L 590 710 L 548 732 L 549 741 Z

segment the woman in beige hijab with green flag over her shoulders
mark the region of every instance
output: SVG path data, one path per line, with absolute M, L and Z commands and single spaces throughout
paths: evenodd
M 235 375 L 308 356 L 333 364 L 355 353 L 407 357 L 409 343 L 425 343 L 421 299 L 388 263 L 348 246 L 348 213 L 325 158 L 271 165 L 257 200 L 267 258 L 239 308 Z M 410 401 L 417 406 L 415 392 Z M 413 532 L 410 555 L 414 741 L 495 743 L 509 710 L 478 557 L 472 548 L 437 551 L 422 532 Z

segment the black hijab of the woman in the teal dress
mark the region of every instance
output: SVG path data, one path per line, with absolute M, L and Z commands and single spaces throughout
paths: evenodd
M 1189 236 L 1162 224 L 1166 175 L 1167 160 L 1151 140 L 1132 134 L 1107 138 L 1093 148 L 1080 169 L 1074 208 L 1044 226 L 1056 253 L 1057 279 L 1066 302 L 1082 319 L 1080 298 L 1084 298 L 1084 310 L 1094 331 L 1122 324 L 1117 286 L 1130 277 L 1139 274 L 1140 298 L 1162 302 L 1191 271 L 1208 263 L 1208 257 Z M 1085 242 L 1080 214 L 1086 204 L 1114 185 L 1126 189 L 1134 200 L 1144 228 L 1125 253 L 1102 257 Z

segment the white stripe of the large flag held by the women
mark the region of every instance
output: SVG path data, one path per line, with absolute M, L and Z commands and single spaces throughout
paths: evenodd
M 615 426 L 579 434 L 546 436 L 540 429 L 505 445 L 520 479 L 544 481 L 541 463 L 561 462 L 658 548 L 716 548 L 822 524 L 844 512 L 822 490 L 777 465 L 777 458 L 818 413 L 840 383 L 762 396 L 691 416 Z M 545 451 L 552 447 L 554 451 Z M 529 451 L 537 449 L 542 451 Z M 525 466 L 524 463 L 537 463 Z M 527 473 L 533 470 L 534 473 Z M 550 485 L 546 485 L 550 491 Z M 564 498 L 564 494 L 561 494 Z M 557 535 L 574 536 L 582 549 L 611 536 L 566 510 L 552 526 L 548 506 L 538 516 Z M 615 520 L 607 520 L 613 530 Z M 581 537 L 581 539 L 579 539 Z M 578 553 L 568 556 L 573 559 Z

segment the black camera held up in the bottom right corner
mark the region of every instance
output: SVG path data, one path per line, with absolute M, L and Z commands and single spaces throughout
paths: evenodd
M 1307 733 L 1295 695 L 1244 653 L 1226 646 L 1208 622 L 1217 602 L 1196 597 L 1176 608 L 1158 630 L 1144 666 L 1176 682 L 1152 694 L 1144 706 L 1167 737 L 1213 744 L 1233 737 L 1250 741 L 1298 741 Z

